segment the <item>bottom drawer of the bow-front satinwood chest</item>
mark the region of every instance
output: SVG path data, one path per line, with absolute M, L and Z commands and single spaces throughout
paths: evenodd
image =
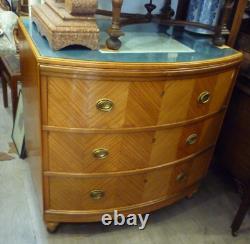
M 98 210 L 126 207 L 170 197 L 206 173 L 211 151 L 185 164 L 143 174 L 100 177 L 49 177 L 49 209 Z

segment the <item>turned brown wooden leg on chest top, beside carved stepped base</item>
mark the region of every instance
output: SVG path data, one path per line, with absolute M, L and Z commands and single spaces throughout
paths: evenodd
M 112 26 L 108 29 L 109 38 L 106 41 L 107 47 L 112 50 L 118 50 L 122 45 L 121 41 L 119 40 L 119 37 L 124 35 L 120 27 L 122 4 L 123 0 L 112 0 Z

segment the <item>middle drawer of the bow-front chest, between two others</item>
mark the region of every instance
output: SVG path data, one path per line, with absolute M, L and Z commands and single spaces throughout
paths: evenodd
M 45 132 L 46 170 L 114 172 L 173 162 L 213 145 L 222 118 L 219 114 L 184 127 L 128 134 Z

